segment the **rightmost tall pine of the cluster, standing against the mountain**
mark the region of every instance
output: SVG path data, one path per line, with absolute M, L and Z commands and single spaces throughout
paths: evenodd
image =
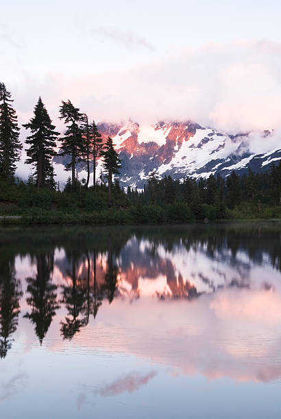
M 121 168 L 121 160 L 114 150 L 112 138 L 108 137 L 104 149 L 100 151 L 100 155 L 103 157 L 103 168 L 106 171 L 106 178 L 108 179 L 108 203 L 111 205 L 112 176 L 119 173 L 119 169 Z

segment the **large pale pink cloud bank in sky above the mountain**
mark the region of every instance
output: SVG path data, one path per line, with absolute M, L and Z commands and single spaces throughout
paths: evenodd
M 108 36 L 114 34 L 108 29 Z M 131 45 L 143 42 L 119 38 Z M 21 85 L 9 87 L 23 122 L 41 95 L 56 120 L 62 99 L 71 99 L 95 120 L 193 120 L 231 134 L 278 131 L 281 44 L 262 40 L 186 48 L 125 70 L 83 77 L 49 73 L 37 80 L 26 75 Z

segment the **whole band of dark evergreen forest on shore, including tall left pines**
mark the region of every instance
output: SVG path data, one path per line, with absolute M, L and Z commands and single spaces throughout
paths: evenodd
M 217 174 L 179 181 L 152 172 L 143 190 L 124 190 L 117 178 L 122 162 L 112 138 L 103 142 L 95 120 L 89 122 L 69 100 L 60 105 L 60 119 L 66 126 L 62 136 L 39 97 L 32 118 L 23 125 L 29 133 L 25 163 L 33 171 L 27 181 L 17 178 L 20 127 L 12 94 L 0 83 L 1 223 L 160 224 L 281 217 L 281 161 L 272 162 L 264 173 L 248 170 L 239 176 L 233 171 L 226 178 Z M 63 190 L 53 168 L 58 154 L 69 157 L 65 169 L 71 177 Z M 103 172 L 97 179 L 100 159 Z M 79 164 L 87 173 L 81 181 Z

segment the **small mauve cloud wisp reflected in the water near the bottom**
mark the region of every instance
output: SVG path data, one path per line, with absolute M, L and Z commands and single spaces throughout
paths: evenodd
M 97 391 L 97 394 L 103 397 L 110 397 L 124 392 L 135 392 L 142 385 L 146 385 L 149 380 L 156 376 L 156 374 L 156 371 L 151 371 L 149 374 L 142 376 L 138 372 L 132 372 L 131 374 L 127 374 L 125 377 L 114 381 L 114 383 L 101 388 Z

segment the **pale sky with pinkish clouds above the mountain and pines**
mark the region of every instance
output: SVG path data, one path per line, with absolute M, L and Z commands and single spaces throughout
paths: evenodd
M 0 9 L 0 79 L 21 123 L 41 95 L 56 122 L 70 99 L 95 120 L 280 128 L 280 1 L 0 0 Z

